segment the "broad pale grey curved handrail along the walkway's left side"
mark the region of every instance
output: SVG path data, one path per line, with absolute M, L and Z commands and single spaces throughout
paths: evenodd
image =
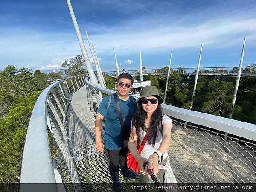
M 85 77 L 84 75 L 80 75 Z M 23 151 L 23 160 L 21 167 L 20 183 L 59 183 L 56 173 L 52 166 L 52 157 L 49 147 L 48 132 L 47 132 L 47 102 L 49 102 L 49 95 L 55 94 L 53 90 L 55 87 L 59 90 L 61 99 L 65 102 L 65 111 L 70 102 L 70 95 L 84 85 L 84 82 L 77 86 L 77 89 L 72 93 L 67 87 L 62 90 L 61 84 L 64 84 L 65 80 L 79 76 L 73 76 L 64 79 L 58 79 L 50 84 L 38 97 L 35 106 L 32 111 L 32 115 L 29 120 L 29 126 L 26 133 L 26 141 Z M 80 80 L 79 80 L 80 81 Z M 56 95 L 55 95 L 56 96 Z M 66 97 L 65 97 L 66 96 Z M 64 100 L 67 99 L 67 100 Z M 22 190 L 22 186 L 21 186 Z M 45 185 L 47 191 L 58 191 L 57 185 Z M 24 191 L 24 190 L 23 190 Z

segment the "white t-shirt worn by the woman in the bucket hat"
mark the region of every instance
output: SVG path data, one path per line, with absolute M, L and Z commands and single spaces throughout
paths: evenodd
M 168 123 L 171 123 L 171 124 L 172 124 L 172 119 L 171 119 L 169 116 L 167 116 L 167 115 L 163 115 L 162 122 L 163 122 L 163 126 L 166 125 L 166 124 L 168 124 Z M 149 156 L 150 156 L 151 154 L 153 154 L 154 151 L 156 151 L 156 150 L 159 148 L 160 143 L 161 143 L 162 140 L 163 140 L 162 133 L 160 132 L 160 131 L 162 131 L 162 130 L 161 130 L 162 127 L 160 126 L 160 124 L 161 124 L 161 122 L 159 122 L 159 129 L 160 129 L 160 130 L 157 131 L 157 137 L 156 137 L 155 146 L 153 147 L 153 145 L 150 145 L 150 144 L 148 143 L 148 141 L 147 141 L 147 142 L 145 143 L 145 146 L 144 146 L 143 150 L 142 150 L 141 153 L 140 153 L 140 156 L 141 156 L 142 158 L 147 158 L 147 160 L 148 160 Z M 135 129 L 135 127 L 133 126 L 132 129 Z M 142 128 L 140 128 L 140 142 L 143 141 L 143 138 L 145 137 L 145 135 L 146 135 L 146 132 L 143 131 Z M 167 155 L 168 155 L 168 153 L 167 153 L 167 151 L 166 151 L 166 152 L 163 154 L 163 159 L 165 159 L 165 158 L 167 157 Z

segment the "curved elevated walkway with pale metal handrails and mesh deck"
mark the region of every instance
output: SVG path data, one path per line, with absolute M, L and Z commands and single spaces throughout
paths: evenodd
M 111 183 L 108 155 L 95 146 L 95 115 L 102 93 L 113 91 L 85 76 L 57 81 L 41 93 L 29 122 L 21 183 L 63 183 L 67 191 L 111 191 L 111 184 L 90 185 Z M 168 154 L 178 183 L 256 183 L 256 125 L 162 107 L 175 119 Z M 183 128 L 185 121 L 189 123 Z M 60 190 L 57 185 L 45 187 L 49 187 L 45 191 Z

